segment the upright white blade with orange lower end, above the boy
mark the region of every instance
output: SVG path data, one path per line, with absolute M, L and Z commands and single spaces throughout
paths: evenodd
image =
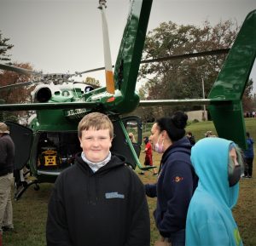
M 110 45 L 108 37 L 108 23 L 105 14 L 105 9 L 107 8 L 106 0 L 99 0 L 100 6 L 98 9 L 102 12 L 102 33 L 103 33 L 103 47 L 104 47 L 104 62 L 105 62 L 105 77 L 106 77 L 106 88 L 107 92 L 114 94 L 114 82 L 113 82 L 113 70 L 112 61 L 110 54 Z

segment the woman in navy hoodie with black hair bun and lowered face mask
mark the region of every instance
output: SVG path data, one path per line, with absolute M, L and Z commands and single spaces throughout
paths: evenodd
M 185 245 L 186 216 L 198 180 L 190 162 L 191 145 L 185 136 L 187 120 L 183 112 L 161 117 L 149 137 L 154 151 L 163 156 L 158 181 L 145 185 L 146 194 L 157 197 L 154 220 L 160 235 L 172 246 Z

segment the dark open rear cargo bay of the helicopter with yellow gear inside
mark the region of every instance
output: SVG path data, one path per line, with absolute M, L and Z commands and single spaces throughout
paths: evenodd
M 38 138 L 38 169 L 65 169 L 81 152 L 77 132 L 40 133 Z

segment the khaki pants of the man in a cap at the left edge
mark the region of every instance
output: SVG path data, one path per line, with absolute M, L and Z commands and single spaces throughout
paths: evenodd
M 11 186 L 14 174 L 0 176 L 0 229 L 3 226 L 14 228 Z

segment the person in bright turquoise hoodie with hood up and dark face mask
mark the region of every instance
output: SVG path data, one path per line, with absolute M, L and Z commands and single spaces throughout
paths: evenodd
M 205 138 L 191 151 L 199 177 L 189 203 L 186 246 L 242 246 L 232 215 L 239 192 L 241 150 L 230 140 Z

